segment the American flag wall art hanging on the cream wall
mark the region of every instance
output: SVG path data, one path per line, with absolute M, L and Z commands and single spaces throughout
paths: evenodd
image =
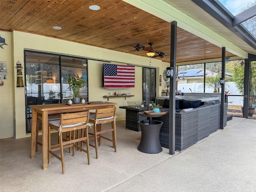
M 103 64 L 102 87 L 107 89 L 132 88 L 135 85 L 135 67 Z

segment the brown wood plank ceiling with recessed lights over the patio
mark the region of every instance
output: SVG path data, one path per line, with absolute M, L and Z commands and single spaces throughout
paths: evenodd
M 90 10 L 90 5 L 98 5 L 100 10 Z M 30 32 L 144 57 L 148 57 L 146 51 L 130 51 L 134 48 L 129 45 L 148 47 L 154 42 L 154 51 L 170 54 L 170 23 L 121 0 L 0 0 L 0 30 Z M 221 58 L 221 48 L 178 28 L 177 63 L 214 58 Z M 169 56 L 156 59 L 170 62 Z

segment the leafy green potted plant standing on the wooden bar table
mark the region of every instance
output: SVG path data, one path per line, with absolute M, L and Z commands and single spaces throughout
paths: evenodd
M 80 98 L 79 98 L 79 90 L 82 89 L 84 80 L 82 77 L 79 77 L 78 75 L 75 77 L 70 77 L 68 78 L 68 84 L 70 85 L 68 88 L 71 88 L 73 90 L 73 103 L 78 104 L 80 103 Z

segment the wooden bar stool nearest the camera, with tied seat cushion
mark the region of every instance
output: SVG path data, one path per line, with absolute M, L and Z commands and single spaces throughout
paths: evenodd
M 59 132 L 58 135 L 58 144 L 51 145 L 51 134 L 48 134 L 48 148 L 49 148 L 49 154 L 48 154 L 48 161 L 51 162 L 51 156 L 55 156 L 58 160 L 61 161 L 62 164 L 62 174 L 65 174 L 65 167 L 64 167 L 64 148 L 71 148 L 73 147 L 73 156 L 75 155 L 75 147 L 82 150 L 83 152 L 87 153 L 87 160 L 88 165 L 90 165 L 90 151 L 89 151 L 89 136 L 88 136 L 88 126 L 90 124 L 89 121 L 89 111 L 85 112 L 77 112 L 77 113 L 69 113 L 69 114 L 61 114 L 60 120 L 50 121 L 49 122 L 49 132 L 50 129 L 57 130 Z M 81 131 L 81 137 L 79 135 L 75 136 L 76 130 L 82 130 Z M 67 141 L 62 140 L 62 133 L 65 132 L 73 132 L 73 136 L 69 138 Z M 86 150 L 78 144 L 76 145 L 76 142 L 82 142 L 84 141 L 86 143 Z M 60 150 L 60 156 L 55 153 L 55 151 Z

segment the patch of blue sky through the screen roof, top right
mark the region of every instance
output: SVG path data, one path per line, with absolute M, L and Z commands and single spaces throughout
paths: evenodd
M 246 7 L 254 0 L 219 0 L 234 16 L 239 14 L 242 7 Z

